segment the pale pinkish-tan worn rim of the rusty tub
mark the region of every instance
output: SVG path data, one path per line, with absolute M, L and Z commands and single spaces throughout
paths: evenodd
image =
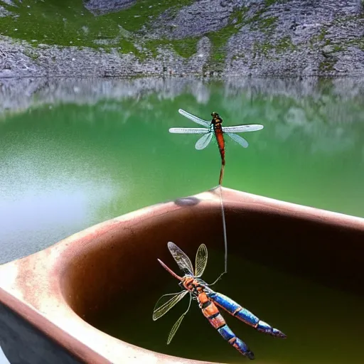
M 211 193 L 214 190 L 215 188 L 188 196 L 188 198 L 197 198 L 206 205 L 220 205 L 220 196 Z M 222 191 L 226 203 L 237 204 L 242 209 L 279 213 L 294 218 L 315 220 L 323 224 L 341 225 L 364 231 L 364 218 L 287 203 L 230 188 L 223 188 Z M 0 303 L 9 307 L 24 320 L 38 328 L 50 340 L 55 341 L 60 347 L 65 348 L 73 356 L 86 363 L 131 363 L 133 359 L 137 359 L 137 362 L 143 360 L 145 363 L 163 364 L 210 363 L 156 353 L 109 336 L 75 314 L 60 291 L 59 274 L 63 265 L 67 264 L 68 259 L 72 257 L 71 253 L 75 251 L 73 247 L 77 246 L 77 250 L 80 250 L 82 249 L 79 246 L 80 242 L 90 241 L 95 236 L 109 231 L 110 228 L 127 225 L 135 219 L 143 218 L 145 220 L 156 215 L 164 215 L 169 211 L 189 208 L 189 205 L 176 203 L 178 200 L 151 205 L 92 225 L 90 228 L 70 235 L 70 237 L 66 237 L 40 252 L 2 264 L 0 266 Z M 25 270 L 23 270 L 24 267 L 26 267 Z M 26 282 L 24 274 L 28 271 L 27 269 L 36 269 L 35 281 Z M 42 285 L 38 286 L 40 283 Z M 37 294 L 36 301 L 31 299 L 34 296 L 31 292 L 33 287 L 41 287 L 41 292 L 37 292 L 39 294 Z M 63 325 L 62 321 L 68 321 L 68 326 Z M 77 328 L 75 335 L 70 333 L 72 326 Z M 96 339 L 102 341 L 104 347 L 95 348 L 90 345 Z M 120 355 L 118 356 L 115 352 L 120 353 Z

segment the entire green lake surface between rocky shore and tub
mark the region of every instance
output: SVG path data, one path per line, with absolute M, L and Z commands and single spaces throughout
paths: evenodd
M 194 78 L 1 80 L 0 262 L 218 183 L 214 145 L 169 134 L 180 107 L 225 125 L 225 186 L 364 217 L 364 82 Z

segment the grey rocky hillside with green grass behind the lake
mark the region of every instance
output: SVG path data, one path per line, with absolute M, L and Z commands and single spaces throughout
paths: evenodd
M 0 0 L 0 77 L 363 75 L 362 0 Z

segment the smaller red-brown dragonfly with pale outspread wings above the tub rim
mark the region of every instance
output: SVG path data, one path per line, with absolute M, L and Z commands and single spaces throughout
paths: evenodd
M 184 117 L 188 117 L 188 119 L 196 122 L 197 124 L 203 125 L 204 128 L 171 128 L 169 129 L 170 133 L 177 134 L 203 134 L 200 139 L 195 144 L 195 148 L 200 150 L 204 149 L 208 144 L 210 144 L 213 135 L 215 134 L 216 141 L 218 142 L 218 147 L 221 156 L 221 169 L 220 169 L 220 178 L 219 185 L 223 184 L 223 176 L 225 170 L 225 139 L 224 134 L 227 134 L 232 140 L 236 141 L 243 148 L 247 148 L 249 146 L 248 142 L 240 137 L 240 135 L 234 133 L 245 133 L 245 132 L 256 132 L 257 130 L 261 130 L 264 128 L 261 124 L 245 124 L 245 125 L 235 125 L 232 127 L 223 127 L 223 119 L 220 117 L 218 112 L 212 112 L 211 116 L 213 119 L 211 120 L 203 120 L 199 117 L 196 117 L 189 112 L 186 112 L 183 109 L 178 109 L 178 112 Z

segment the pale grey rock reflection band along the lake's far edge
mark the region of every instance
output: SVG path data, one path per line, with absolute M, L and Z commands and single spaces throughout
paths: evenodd
M 364 95 L 364 77 L 0 77 L 0 120 L 9 112 L 32 107 L 121 102 L 154 92 L 167 99 L 189 92 L 196 102 L 204 103 L 210 97 L 210 82 L 218 82 L 225 97 L 242 92 L 253 99 L 289 97 L 297 107 L 309 102 L 313 107 L 335 108 L 340 100 L 361 100 Z

